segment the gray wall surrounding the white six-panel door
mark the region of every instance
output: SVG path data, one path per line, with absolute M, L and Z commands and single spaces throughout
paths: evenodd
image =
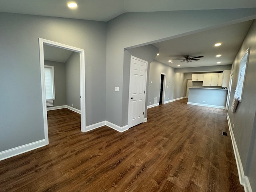
M 130 63 L 131 63 L 131 56 L 140 58 L 142 60 L 145 60 L 148 62 L 148 70 L 147 70 L 147 83 L 146 83 L 146 103 L 148 100 L 148 77 L 149 77 L 149 71 L 150 71 L 150 63 L 154 60 L 156 57 L 156 54 L 159 52 L 159 49 L 153 45 L 146 45 L 141 46 L 138 48 L 131 48 L 128 50 L 124 50 L 124 81 L 123 81 L 123 87 L 129 87 L 130 82 Z M 128 71 L 128 72 L 126 72 Z M 125 126 L 128 124 L 128 101 L 129 99 L 129 89 L 123 90 L 123 110 L 122 110 L 122 126 Z M 145 117 L 147 116 L 147 106 L 145 106 Z

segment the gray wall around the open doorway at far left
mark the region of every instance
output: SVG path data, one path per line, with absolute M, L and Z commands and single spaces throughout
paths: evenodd
M 44 139 L 38 38 L 85 50 L 86 125 L 106 120 L 106 22 L 0 13 L 0 151 Z

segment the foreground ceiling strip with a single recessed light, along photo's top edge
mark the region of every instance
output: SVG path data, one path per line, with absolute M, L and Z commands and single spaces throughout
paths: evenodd
M 71 0 L 72 1 L 72 0 Z M 109 21 L 125 12 L 255 8 L 256 0 L 1 0 L 0 12 Z

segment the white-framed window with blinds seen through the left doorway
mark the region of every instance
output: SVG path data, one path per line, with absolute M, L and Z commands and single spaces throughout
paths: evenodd
M 44 66 L 44 79 L 45 79 L 46 100 L 53 100 L 55 99 L 53 66 L 48 66 L 48 65 Z

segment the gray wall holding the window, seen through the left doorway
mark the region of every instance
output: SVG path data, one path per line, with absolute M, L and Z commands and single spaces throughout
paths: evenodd
M 54 106 L 66 105 L 66 64 L 62 62 L 44 60 L 45 65 L 54 66 Z

